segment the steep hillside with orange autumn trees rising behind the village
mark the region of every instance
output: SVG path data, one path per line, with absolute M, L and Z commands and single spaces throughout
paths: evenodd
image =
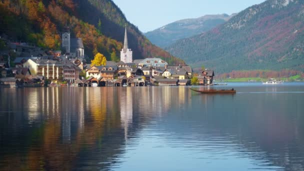
M 127 21 L 112 0 L 0 0 L 0 35 L 41 47 L 60 49 L 61 31 L 68 25 L 71 37 L 82 38 L 85 53 L 120 54 L 127 26 L 133 58 L 161 57 L 170 64 L 184 64 L 153 45 Z

